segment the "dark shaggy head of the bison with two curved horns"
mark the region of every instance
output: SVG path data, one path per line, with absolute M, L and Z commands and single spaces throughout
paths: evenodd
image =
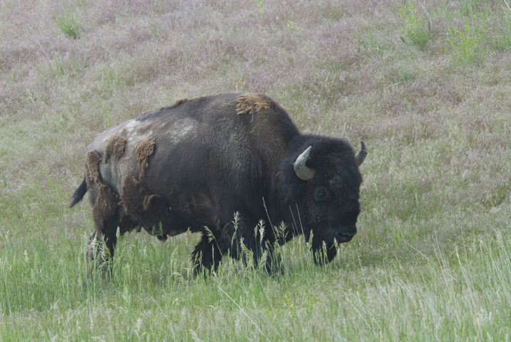
M 355 153 L 345 140 L 312 137 L 294 155 L 298 153 L 294 174 L 288 166 L 287 177 L 292 177 L 288 184 L 295 187 L 289 192 L 293 198 L 288 199 L 298 204 L 306 239 L 313 233 L 311 249 L 316 263 L 324 260 L 317 254 L 323 247 L 331 261 L 336 255 L 335 243 L 349 242 L 356 234 L 362 182 L 358 166 L 366 157 L 366 143 Z

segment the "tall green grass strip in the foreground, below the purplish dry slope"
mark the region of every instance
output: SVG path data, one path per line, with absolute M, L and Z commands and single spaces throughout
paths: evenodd
M 510 213 L 507 206 L 436 220 L 443 227 L 389 221 L 386 237 L 342 245 L 321 268 L 296 239 L 280 249 L 282 274 L 226 260 L 207 279 L 192 276 L 192 234 L 167 243 L 128 234 L 105 281 L 99 272 L 86 277 L 86 234 L 45 237 L 51 228 L 37 225 L 31 238 L 9 231 L 1 237 L 1 336 L 502 340 L 511 323 Z M 428 224 L 431 234 L 414 241 L 411 231 Z

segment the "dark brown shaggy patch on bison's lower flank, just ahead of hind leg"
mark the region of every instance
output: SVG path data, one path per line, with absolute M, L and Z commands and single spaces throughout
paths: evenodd
M 167 201 L 160 195 L 151 195 L 135 177 L 124 178 L 120 198 L 126 214 L 131 215 L 149 234 L 164 237 L 170 233 L 167 229 L 172 227 L 175 216 L 170 212 Z

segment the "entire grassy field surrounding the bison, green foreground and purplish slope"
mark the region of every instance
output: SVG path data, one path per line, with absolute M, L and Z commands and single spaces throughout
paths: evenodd
M 0 341 L 510 341 L 509 0 L 0 0 L 0 82 Z M 130 233 L 88 279 L 86 145 L 229 91 L 368 143 L 356 237 L 203 279 Z

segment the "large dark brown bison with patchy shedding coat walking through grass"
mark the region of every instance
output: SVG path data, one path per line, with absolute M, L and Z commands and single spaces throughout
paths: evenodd
M 329 262 L 356 234 L 361 145 L 301 134 L 266 95 L 181 99 L 94 138 L 71 207 L 90 192 L 91 242 L 103 237 L 112 257 L 118 228 L 163 240 L 190 229 L 202 232 L 196 271 L 239 258 L 241 244 L 272 271 L 277 244 L 311 233 L 314 261 Z

